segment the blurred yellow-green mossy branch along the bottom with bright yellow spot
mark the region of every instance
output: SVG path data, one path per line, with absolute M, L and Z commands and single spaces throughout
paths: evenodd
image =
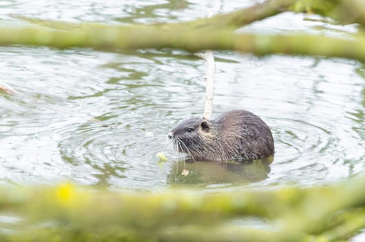
M 71 184 L 0 187 L 1 210 L 24 219 L 12 233 L 0 232 L 0 239 L 220 241 L 230 236 L 230 241 L 338 241 L 365 227 L 364 185 L 365 177 L 332 187 L 205 194 L 180 189 L 112 192 Z M 252 217 L 265 226 L 231 223 Z M 34 226 L 47 221 L 53 221 L 49 228 Z

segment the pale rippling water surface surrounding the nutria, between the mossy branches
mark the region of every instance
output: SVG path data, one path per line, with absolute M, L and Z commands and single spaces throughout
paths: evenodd
M 257 1 L 0 1 L 0 26 L 14 14 L 106 24 L 186 21 Z M 286 13 L 246 32 L 303 30 L 346 36 L 356 26 Z M 167 133 L 202 115 L 205 63 L 180 50 L 0 47 L 0 183 L 203 189 L 330 183 L 364 169 L 365 66 L 346 59 L 254 57 L 215 52 L 214 117 L 247 109 L 272 128 L 271 165 L 176 165 Z M 94 119 L 100 120 L 96 122 Z M 156 153 L 169 161 L 159 164 Z M 181 156 L 180 156 L 181 158 Z M 181 171 L 187 169 L 184 177 Z

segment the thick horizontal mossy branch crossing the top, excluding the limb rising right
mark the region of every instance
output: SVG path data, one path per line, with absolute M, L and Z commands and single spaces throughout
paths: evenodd
M 232 30 L 162 30 L 133 26 L 88 28 L 87 30 L 49 30 L 46 28 L 2 28 L 0 45 L 26 44 L 57 48 L 180 48 L 198 50 L 238 50 L 254 55 L 320 55 L 365 59 L 365 37 L 353 39 L 322 35 L 236 34 Z

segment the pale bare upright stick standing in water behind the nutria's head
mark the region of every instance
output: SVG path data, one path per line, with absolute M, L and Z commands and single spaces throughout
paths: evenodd
M 213 95 L 214 95 L 214 76 L 216 74 L 216 64 L 214 63 L 214 55 L 212 50 L 207 50 L 206 53 L 198 53 L 196 56 L 207 62 L 207 89 L 205 91 L 205 106 L 203 118 L 212 119 Z

